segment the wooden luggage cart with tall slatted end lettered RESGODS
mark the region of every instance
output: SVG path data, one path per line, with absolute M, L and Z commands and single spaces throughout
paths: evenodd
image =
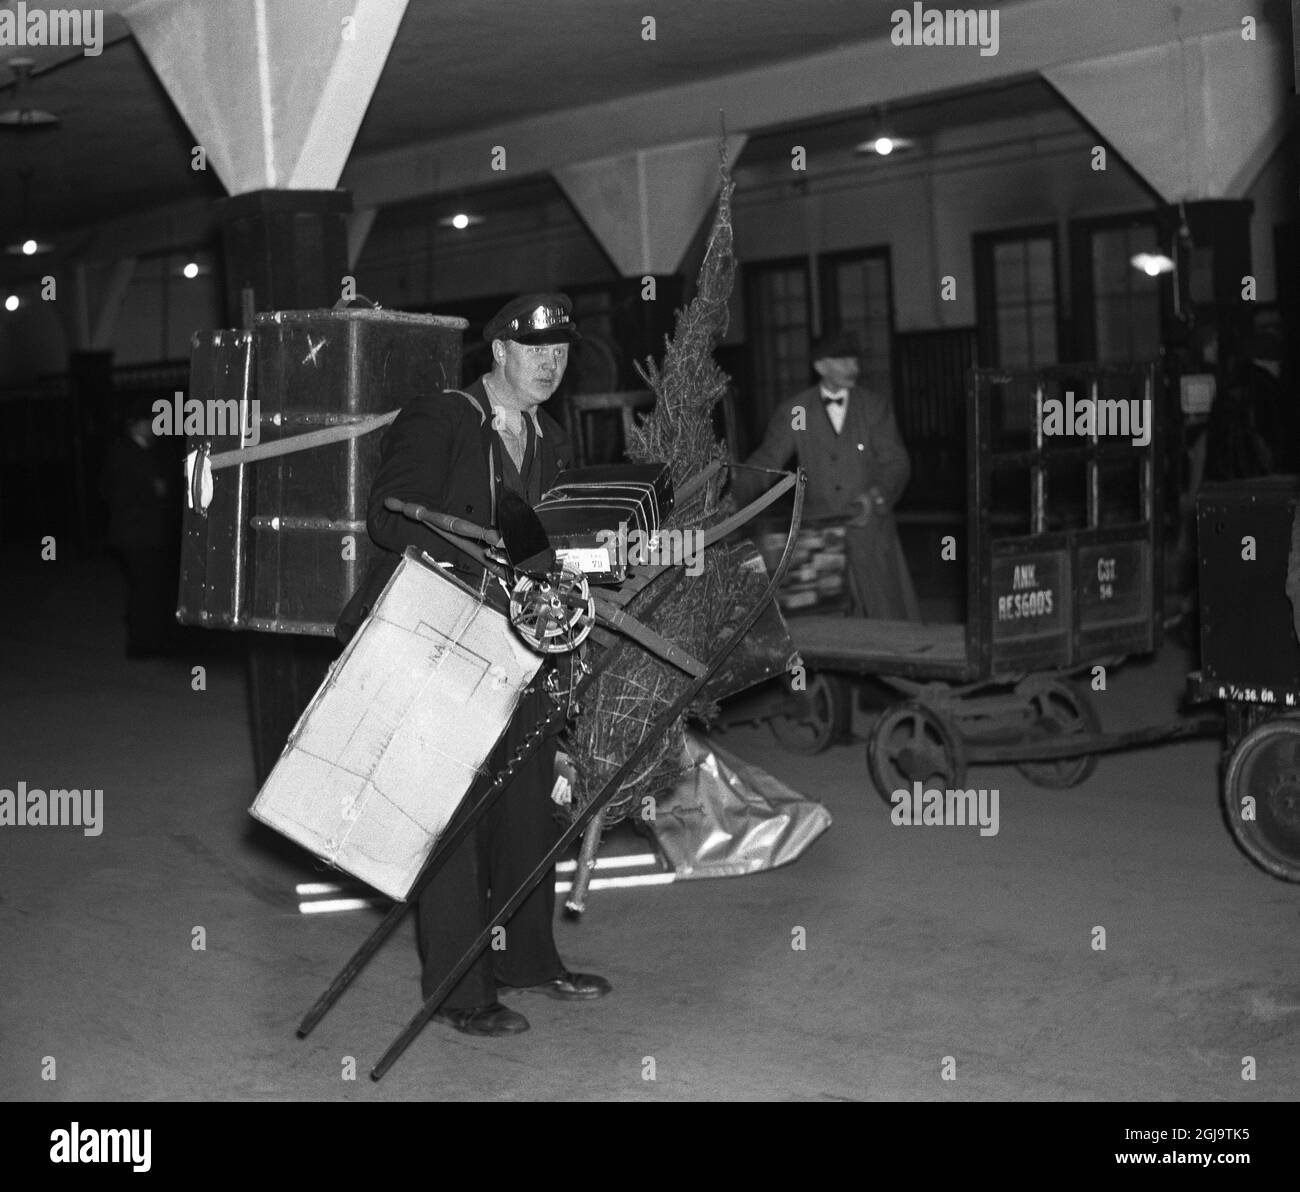
M 1135 430 L 1121 408 L 1147 433 L 1108 433 Z M 1054 411 L 1084 433 L 1048 433 Z M 1162 640 L 1160 424 L 1152 364 L 972 369 L 967 526 L 944 543 L 966 568 L 965 623 L 790 616 L 806 689 L 759 719 L 785 747 L 818 753 L 846 727 L 854 681 L 883 680 L 905 697 L 867 746 L 885 799 L 915 781 L 961 786 L 968 764 L 988 762 L 1074 786 L 1098 753 L 1217 731 L 1201 716 L 1102 733 L 1091 681 L 1078 681 Z

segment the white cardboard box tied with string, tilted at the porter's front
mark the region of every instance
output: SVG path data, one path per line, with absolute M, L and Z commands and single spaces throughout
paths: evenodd
M 406 898 L 541 662 L 502 614 L 408 550 L 252 816 Z

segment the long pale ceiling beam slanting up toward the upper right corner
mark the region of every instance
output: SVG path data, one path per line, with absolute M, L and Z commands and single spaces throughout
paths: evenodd
M 1286 21 L 1274 0 L 1024 0 L 1001 8 L 996 55 L 975 47 L 894 45 L 888 36 L 677 87 L 547 112 L 456 136 L 354 157 L 342 185 L 359 207 L 490 186 L 646 146 L 758 131 L 878 104 L 919 99 L 1035 74 L 1066 62 L 1180 38 L 1240 30 L 1261 9 Z M 1277 12 L 1275 12 L 1277 10 Z M 498 149 L 503 149 L 502 155 Z M 502 160 L 504 157 L 504 160 Z

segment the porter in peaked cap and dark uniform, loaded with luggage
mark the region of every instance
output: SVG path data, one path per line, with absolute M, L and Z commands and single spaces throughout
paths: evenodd
M 445 538 L 387 510 L 386 498 L 495 526 L 503 487 L 536 504 L 567 465 L 568 441 L 542 404 L 564 376 L 569 343 L 578 339 L 571 311 L 563 294 L 526 294 L 508 302 L 484 328 L 491 370 L 464 390 L 422 394 L 402 408 L 384 437 L 367 523 L 374 542 L 393 554 L 351 602 L 342 617 L 344 629 L 364 617 L 407 546 L 451 563 L 474 586 L 482 578 L 481 568 Z M 538 677 L 543 673 L 545 668 Z M 542 684 L 534 686 L 520 701 L 494 764 L 510 757 L 552 706 Z M 551 734 L 420 894 L 416 929 L 425 997 L 558 838 L 550 799 L 555 751 Z M 564 1000 L 608 993 L 603 978 L 569 972 L 560 962 L 554 911 L 551 871 L 506 924 L 504 948 L 478 957 L 436 1020 L 471 1035 L 515 1035 L 528 1030 L 528 1020 L 500 1004 L 502 989 Z

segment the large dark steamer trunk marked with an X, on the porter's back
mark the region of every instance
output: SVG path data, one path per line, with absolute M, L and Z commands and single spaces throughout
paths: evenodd
M 380 309 L 260 313 L 251 331 L 194 337 L 190 398 L 237 400 L 244 425 L 256 411 L 263 445 L 355 425 L 459 385 L 464 328 Z M 257 634 L 248 676 L 259 783 L 338 656 L 334 621 L 378 552 L 365 506 L 382 434 L 217 469 L 207 511 L 185 512 L 178 619 Z M 217 455 L 239 435 L 187 450 L 204 443 Z

